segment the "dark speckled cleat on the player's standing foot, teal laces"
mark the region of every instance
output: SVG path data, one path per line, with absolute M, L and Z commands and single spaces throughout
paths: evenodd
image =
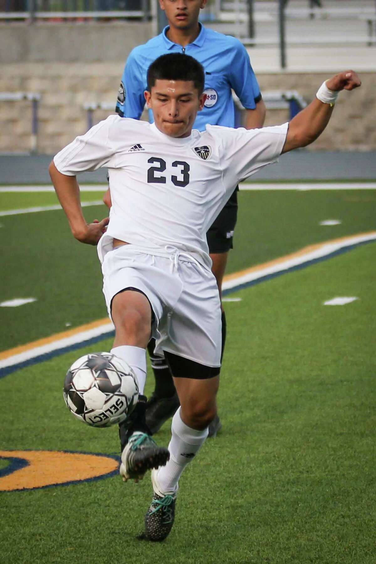
M 152 503 L 145 515 L 145 535 L 148 540 L 162 541 L 169 536 L 175 519 L 176 490 L 170 493 L 161 492 L 157 483 L 158 470 L 152 470 L 154 495 Z

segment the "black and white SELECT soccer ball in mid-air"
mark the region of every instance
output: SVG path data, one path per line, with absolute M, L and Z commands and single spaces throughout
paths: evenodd
M 136 374 L 124 360 L 110 352 L 92 352 L 69 368 L 63 394 L 79 421 L 109 427 L 132 413 L 139 389 Z

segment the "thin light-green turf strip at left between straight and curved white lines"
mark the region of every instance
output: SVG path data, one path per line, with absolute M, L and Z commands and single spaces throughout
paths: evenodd
M 103 192 L 81 192 L 82 202 L 101 200 Z M 0 211 L 59 204 L 55 192 L 0 192 Z M 41 212 L 42 213 L 42 212 Z

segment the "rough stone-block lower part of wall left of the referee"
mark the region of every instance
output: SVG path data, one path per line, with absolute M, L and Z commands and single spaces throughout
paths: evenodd
M 21 63 L 2 68 L 0 91 L 37 92 L 37 152 L 59 151 L 87 130 L 85 103 L 116 104 L 123 63 Z M 111 112 L 95 112 L 94 123 Z M 0 151 L 28 151 L 31 103 L 0 102 Z

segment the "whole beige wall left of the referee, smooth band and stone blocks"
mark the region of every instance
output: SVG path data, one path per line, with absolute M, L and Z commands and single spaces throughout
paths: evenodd
M 0 92 L 41 95 L 39 153 L 85 133 L 85 103 L 115 107 L 127 56 L 152 34 L 152 24 L 140 21 L 0 24 Z M 96 112 L 95 122 L 109 113 Z M 29 151 L 31 131 L 31 102 L 0 101 L 0 152 Z

